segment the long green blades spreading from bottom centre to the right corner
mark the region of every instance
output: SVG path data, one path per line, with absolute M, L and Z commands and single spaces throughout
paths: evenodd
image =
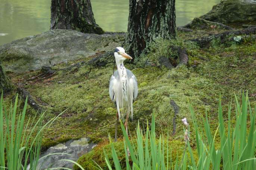
M 137 137 L 135 142 L 129 140 L 128 135 L 125 132 L 124 125 L 121 122 L 121 128 L 124 135 L 124 151 L 126 170 L 249 170 L 256 169 L 256 128 L 255 119 L 256 114 L 253 113 L 248 94 L 242 95 L 241 105 L 235 96 L 235 125 L 232 125 L 231 120 L 231 104 L 228 108 L 228 118 L 224 121 L 222 113 L 221 97 L 219 98 L 218 108 L 218 120 L 219 125 L 215 131 L 212 131 L 209 125 L 208 116 L 203 118 L 204 131 L 201 131 L 194 110 L 190 106 L 192 122 L 195 131 L 195 143 L 198 155 L 198 160 L 195 160 L 194 154 L 190 147 L 188 138 L 189 126 L 186 126 L 185 131 L 185 149 L 188 149 L 188 153 L 184 151 L 181 160 L 176 159 L 172 161 L 172 156 L 169 155 L 168 147 L 165 151 L 165 143 L 163 137 L 156 139 L 155 134 L 155 118 L 154 113 L 152 116 L 151 132 L 149 131 L 149 125 L 147 124 L 146 135 L 140 129 L 140 124 L 137 126 Z M 256 108 L 255 108 L 256 109 Z M 250 121 L 247 121 L 249 115 Z M 184 119 L 182 120 L 184 122 Z M 187 123 L 187 121 L 185 121 Z M 247 126 L 249 126 L 247 128 Z M 216 148 L 215 139 L 219 133 L 220 147 Z M 205 134 L 205 135 L 204 135 Z M 111 138 L 110 138 L 111 142 Z M 167 145 L 168 146 L 168 145 Z M 113 158 L 113 164 L 116 170 L 121 170 L 120 161 L 117 157 L 116 150 L 111 142 L 111 153 Z M 129 153 L 127 152 L 127 148 Z M 112 164 L 106 153 L 105 160 L 109 170 L 112 170 Z M 178 156 L 177 156 L 178 157 Z M 190 159 L 188 159 L 190 158 Z M 99 168 L 101 169 L 101 168 Z

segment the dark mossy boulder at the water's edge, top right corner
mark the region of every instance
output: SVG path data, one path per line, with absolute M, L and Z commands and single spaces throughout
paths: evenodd
M 256 0 L 221 0 L 200 18 L 224 24 L 255 22 Z

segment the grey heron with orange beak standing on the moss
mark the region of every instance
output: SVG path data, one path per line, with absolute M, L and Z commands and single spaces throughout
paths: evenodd
M 113 75 L 110 78 L 109 96 L 111 100 L 115 103 L 117 108 L 115 129 L 116 141 L 117 125 L 119 119 L 121 118 L 121 108 L 124 108 L 126 110 L 125 129 L 128 134 L 128 117 L 130 112 L 131 116 L 133 115 L 132 104 L 138 95 L 138 83 L 134 74 L 124 67 L 124 60 L 131 60 L 132 57 L 125 53 L 125 50 L 122 47 L 115 48 L 114 56 L 117 70 L 113 73 Z

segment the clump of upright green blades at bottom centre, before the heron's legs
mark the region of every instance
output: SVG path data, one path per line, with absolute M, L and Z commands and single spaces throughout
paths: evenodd
M 143 135 L 143 131 L 140 129 L 140 124 L 138 123 L 136 132 L 137 137 L 134 142 L 129 140 L 128 135 L 126 134 L 124 125 L 121 122 L 121 127 L 124 135 L 124 151 L 125 151 L 125 162 L 127 170 L 137 169 L 137 170 L 168 170 L 169 167 L 171 168 L 173 164 L 175 164 L 174 169 L 178 168 L 178 159 L 176 162 L 172 161 L 172 157 L 169 157 L 169 149 L 168 144 L 165 152 L 165 142 L 163 138 L 160 136 L 158 141 L 156 140 L 156 133 L 155 133 L 155 117 L 154 112 L 152 116 L 152 124 L 151 124 L 151 132 L 149 131 L 149 124 L 147 124 L 146 135 Z M 110 139 L 111 142 L 111 139 Z M 135 145 L 135 146 L 134 146 Z M 114 148 L 113 143 L 111 142 L 111 153 L 113 158 L 113 163 L 115 165 L 116 170 L 122 170 L 120 165 L 120 160 L 117 157 L 116 150 Z M 128 156 L 128 152 L 129 155 Z M 109 157 L 107 156 L 106 152 L 105 160 L 106 164 L 109 167 L 109 170 L 112 170 L 112 165 L 109 161 Z M 130 165 L 130 161 L 132 165 Z

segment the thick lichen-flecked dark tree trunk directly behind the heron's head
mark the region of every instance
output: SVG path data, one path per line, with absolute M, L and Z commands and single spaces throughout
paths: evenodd
M 130 0 L 125 48 L 139 57 L 156 38 L 175 37 L 175 0 Z

